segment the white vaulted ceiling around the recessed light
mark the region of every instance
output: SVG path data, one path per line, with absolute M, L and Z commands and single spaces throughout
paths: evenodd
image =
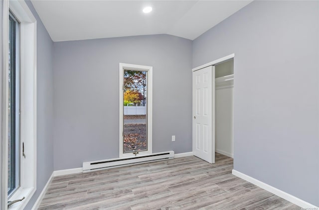
M 53 41 L 170 34 L 194 40 L 252 0 L 31 0 Z M 145 6 L 153 11 L 143 13 Z

